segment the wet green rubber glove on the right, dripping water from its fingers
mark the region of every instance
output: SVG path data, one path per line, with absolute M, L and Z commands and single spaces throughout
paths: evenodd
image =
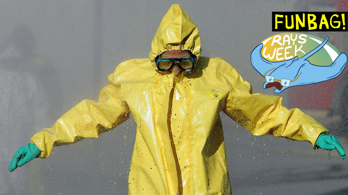
M 315 146 L 328 150 L 333 150 L 336 148 L 338 154 L 341 156 L 341 159 L 346 158 L 346 153 L 343 150 L 340 141 L 338 141 L 338 139 L 333 135 L 325 135 L 324 133 L 320 134 L 315 142 Z

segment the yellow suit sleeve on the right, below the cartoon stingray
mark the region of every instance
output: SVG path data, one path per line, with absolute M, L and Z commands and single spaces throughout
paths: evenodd
M 224 112 L 253 135 L 274 135 L 292 140 L 309 141 L 314 149 L 318 136 L 328 130 L 300 109 L 288 110 L 282 97 L 253 93 L 250 83 L 233 69 L 234 82 Z

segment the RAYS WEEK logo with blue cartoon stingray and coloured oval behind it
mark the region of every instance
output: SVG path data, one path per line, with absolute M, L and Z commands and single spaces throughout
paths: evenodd
M 282 33 L 263 40 L 251 53 L 251 64 L 264 77 L 263 88 L 274 92 L 319 83 L 340 75 L 347 64 L 345 53 L 328 42 L 303 33 Z

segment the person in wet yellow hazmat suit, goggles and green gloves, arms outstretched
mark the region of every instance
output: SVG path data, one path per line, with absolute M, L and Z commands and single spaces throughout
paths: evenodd
M 327 129 L 313 118 L 283 107 L 282 97 L 253 94 L 221 58 L 199 56 L 196 25 L 180 5 L 172 5 L 149 58 L 118 65 L 97 102 L 83 100 L 52 128 L 36 133 L 18 149 L 9 170 L 48 157 L 55 145 L 96 138 L 130 113 L 137 129 L 129 194 L 231 194 L 220 111 L 253 135 L 309 141 L 314 148 L 320 142 L 345 158 L 339 141 L 325 137 Z

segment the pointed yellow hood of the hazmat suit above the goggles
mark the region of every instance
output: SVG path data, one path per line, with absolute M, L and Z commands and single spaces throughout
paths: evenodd
M 189 50 L 200 56 L 200 36 L 197 26 L 186 11 L 173 4 L 158 26 L 151 43 L 150 60 L 155 64 L 155 58 L 169 50 Z

